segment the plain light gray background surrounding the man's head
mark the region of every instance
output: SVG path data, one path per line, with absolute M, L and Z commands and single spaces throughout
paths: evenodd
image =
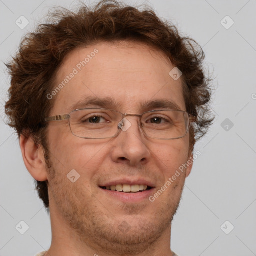
M 184 35 L 199 42 L 216 77 L 212 105 L 215 123 L 195 146 L 201 156 L 194 162 L 185 184 L 173 221 L 171 247 L 179 256 L 256 255 L 256 1 L 147 3 L 159 16 L 176 24 Z M 42 20 L 51 6 L 76 4 L 72 0 L 0 0 L 1 256 L 35 255 L 48 249 L 51 242 L 49 216 L 24 166 L 17 137 L 3 121 L 9 86 L 3 62 L 14 54 L 20 38 L 34 28 L 35 21 Z M 29 21 L 24 29 L 15 24 L 21 15 Z M 226 15 L 234 21 L 229 29 L 220 23 Z M 222 22 L 225 26 L 231 24 L 228 18 Z M 226 118 L 229 124 L 223 123 Z M 29 226 L 23 235 L 15 229 L 21 220 Z M 220 228 L 226 220 L 229 222 L 222 230 L 228 232 L 234 226 L 229 234 Z

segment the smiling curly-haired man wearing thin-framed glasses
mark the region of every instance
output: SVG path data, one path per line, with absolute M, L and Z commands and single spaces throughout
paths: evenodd
M 7 64 L 5 112 L 50 212 L 40 255 L 175 255 L 171 221 L 212 122 L 202 50 L 115 1 L 54 15 Z

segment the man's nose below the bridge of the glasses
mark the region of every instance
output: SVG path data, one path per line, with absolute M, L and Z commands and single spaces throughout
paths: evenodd
M 122 130 L 113 139 L 111 158 L 114 162 L 129 165 L 145 164 L 150 158 L 149 141 L 139 128 L 137 117 L 125 117 Z

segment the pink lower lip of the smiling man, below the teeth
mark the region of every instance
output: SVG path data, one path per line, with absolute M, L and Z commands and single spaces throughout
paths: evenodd
M 120 183 L 117 183 L 120 184 Z M 136 183 L 137 184 L 137 183 Z M 155 188 L 151 188 L 149 190 L 144 190 L 142 192 L 135 192 L 135 193 L 125 193 L 125 192 L 119 192 L 119 191 L 112 191 L 112 190 L 107 190 L 107 189 L 103 189 L 100 188 L 101 191 L 103 193 L 106 194 L 106 196 L 109 198 L 113 198 L 113 199 L 118 199 L 122 202 L 128 203 L 138 203 L 138 202 L 142 202 L 144 200 L 148 200 L 149 196 L 152 195 L 154 193 Z

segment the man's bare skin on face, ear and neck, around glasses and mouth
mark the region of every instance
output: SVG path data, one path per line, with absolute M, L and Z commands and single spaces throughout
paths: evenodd
M 96 56 L 55 96 L 50 116 L 69 113 L 73 103 L 88 95 L 110 95 L 122 113 L 144 112 L 139 103 L 149 99 L 168 99 L 186 110 L 181 79 L 169 76 L 174 66 L 162 52 L 143 44 L 104 42 L 75 49 L 57 71 L 55 86 L 95 48 Z M 106 196 L 98 185 L 141 177 L 157 191 L 191 157 L 189 133 L 174 140 L 147 138 L 137 117 L 126 118 L 131 123 L 127 131 L 99 140 L 72 135 L 68 121 L 49 122 L 50 168 L 42 147 L 20 136 L 28 171 L 36 180 L 49 181 L 52 243 L 47 256 L 172 255 L 171 220 L 192 164 L 154 202 L 123 203 Z M 72 169 L 80 175 L 74 183 L 66 177 Z

